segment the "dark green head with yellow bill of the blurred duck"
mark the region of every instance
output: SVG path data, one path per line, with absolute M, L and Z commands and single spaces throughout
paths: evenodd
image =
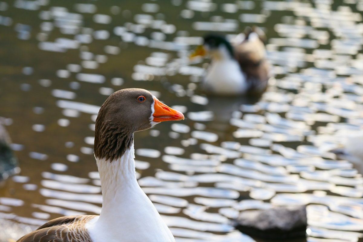
M 230 57 L 234 56 L 233 47 L 224 36 L 208 34 L 204 37 L 204 44 L 198 46 L 190 57 L 205 56 L 209 53 L 212 58 L 219 59 L 223 55 L 221 52 L 226 52 L 225 55 Z

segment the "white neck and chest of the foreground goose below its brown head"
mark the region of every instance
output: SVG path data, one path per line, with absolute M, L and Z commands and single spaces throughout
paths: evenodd
M 175 241 L 135 176 L 134 144 L 113 161 L 97 160 L 102 210 L 87 229 L 92 241 Z

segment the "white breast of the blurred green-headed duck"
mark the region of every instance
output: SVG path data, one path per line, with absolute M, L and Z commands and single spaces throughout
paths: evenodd
M 203 89 L 208 93 L 218 95 L 244 94 L 248 89 L 246 76 L 242 73 L 238 62 L 229 56 L 224 46 L 221 46 L 212 56 L 207 75 L 203 79 Z

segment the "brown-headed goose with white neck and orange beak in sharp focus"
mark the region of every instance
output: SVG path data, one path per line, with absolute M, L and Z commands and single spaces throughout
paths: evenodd
M 101 180 L 99 216 L 50 220 L 18 241 L 175 241 L 135 176 L 134 132 L 184 120 L 144 89 L 122 89 L 102 104 L 95 124 L 94 155 Z

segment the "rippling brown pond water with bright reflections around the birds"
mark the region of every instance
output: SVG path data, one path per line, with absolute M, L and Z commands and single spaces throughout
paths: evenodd
M 1 116 L 21 168 L 0 190 L 1 218 L 30 231 L 99 214 L 95 118 L 114 91 L 137 87 L 186 117 L 135 133 L 139 184 L 177 241 L 253 241 L 230 221 L 281 205 L 308 205 L 307 241 L 362 241 L 362 175 L 330 152 L 362 134 L 362 10 L 360 0 L 1 1 Z M 231 39 L 252 25 L 268 37 L 268 90 L 205 97 L 209 60 L 190 63 L 190 51 L 210 31 Z

